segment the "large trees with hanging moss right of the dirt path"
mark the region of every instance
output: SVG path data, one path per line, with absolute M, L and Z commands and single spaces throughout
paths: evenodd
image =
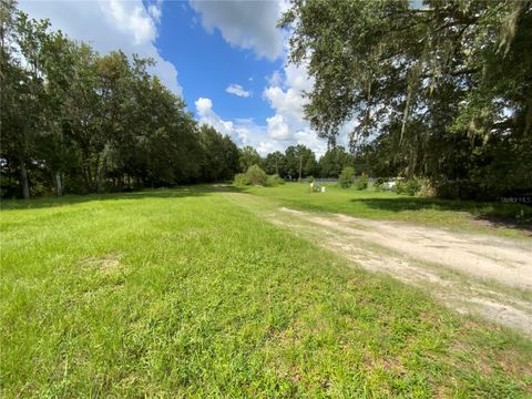
M 293 0 L 290 61 L 315 84 L 307 119 L 374 176 L 441 196 L 532 193 L 532 1 Z

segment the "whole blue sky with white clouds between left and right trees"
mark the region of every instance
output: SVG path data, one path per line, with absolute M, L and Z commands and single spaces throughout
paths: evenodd
M 156 74 L 184 98 L 200 123 L 260 155 L 305 144 L 327 150 L 304 119 L 306 68 L 287 62 L 287 32 L 276 28 L 285 1 L 20 0 L 52 29 L 105 53 L 121 49 L 156 61 Z M 342 140 L 340 139 L 340 143 Z

